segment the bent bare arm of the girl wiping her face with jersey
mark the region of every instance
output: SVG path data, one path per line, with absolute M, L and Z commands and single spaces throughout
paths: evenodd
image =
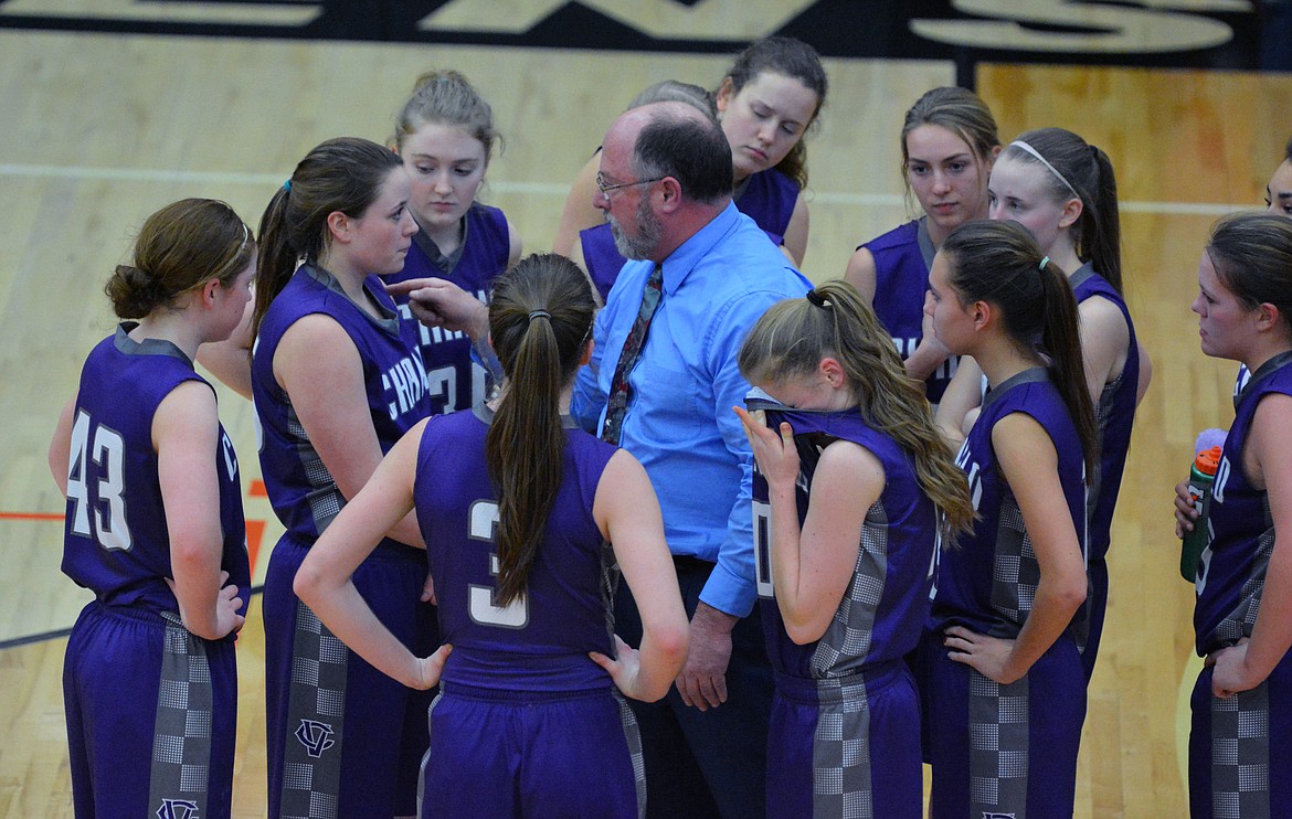
M 806 645 L 826 633 L 848 592 L 866 512 L 884 491 L 884 466 L 855 443 L 831 443 L 813 475 L 811 500 L 800 528 L 793 430 L 789 424 L 782 424 L 779 431 L 769 429 L 744 410 L 735 410 L 767 479 L 776 607 L 789 638 Z

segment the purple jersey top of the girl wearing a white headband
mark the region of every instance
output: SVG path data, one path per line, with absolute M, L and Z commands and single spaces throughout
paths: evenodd
M 1130 426 L 1134 422 L 1136 390 L 1140 386 L 1140 345 L 1136 341 L 1134 324 L 1127 302 L 1109 282 L 1094 273 L 1089 264 L 1081 265 L 1072 274 L 1072 291 L 1078 304 L 1102 296 L 1121 311 L 1127 331 L 1130 333 L 1130 346 L 1127 349 L 1127 363 L 1121 375 L 1111 384 L 1105 384 L 1099 400 L 1094 406 L 1094 419 L 1099 428 L 1098 472 L 1090 481 L 1090 559 L 1102 561 L 1109 553 L 1112 527 L 1112 509 L 1121 488 L 1121 473 L 1127 465 L 1127 452 L 1130 450 Z

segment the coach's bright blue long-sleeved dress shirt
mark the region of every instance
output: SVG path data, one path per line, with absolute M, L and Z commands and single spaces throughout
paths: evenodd
M 597 315 L 592 362 L 579 372 L 571 406 L 594 434 L 654 266 L 625 264 Z M 717 565 L 700 599 L 730 615 L 749 614 L 757 598 L 753 453 L 731 411 L 744 406 L 749 384 L 736 357 L 767 307 L 810 287 L 753 220 L 729 204 L 664 260 L 663 297 L 628 377 L 620 444 L 650 475 L 672 553 Z

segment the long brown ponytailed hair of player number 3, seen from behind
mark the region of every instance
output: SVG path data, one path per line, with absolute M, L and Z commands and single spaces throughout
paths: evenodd
M 497 603 L 525 597 L 563 479 L 561 394 L 574 381 L 596 302 L 588 278 L 563 256 L 528 256 L 501 276 L 490 335 L 506 382 L 484 437 L 497 495 Z

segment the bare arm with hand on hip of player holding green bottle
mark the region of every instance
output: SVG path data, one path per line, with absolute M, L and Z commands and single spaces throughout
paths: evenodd
M 1252 420 L 1248 457 L 1243 468 L 1265 484 L 1274 519 L 1274 552 L 1265 575 L 1261 607 L 1252 639 L 1212 655 L 1212 692 L 1230 696 L 1261 685 L 1292 648 L 1292 395 L 1273 393 L 1261 399 Z M 1255 481 L 1253 481 L 1255 483 Z M 1255 544 L 1253 544 L 1255 548 Z

